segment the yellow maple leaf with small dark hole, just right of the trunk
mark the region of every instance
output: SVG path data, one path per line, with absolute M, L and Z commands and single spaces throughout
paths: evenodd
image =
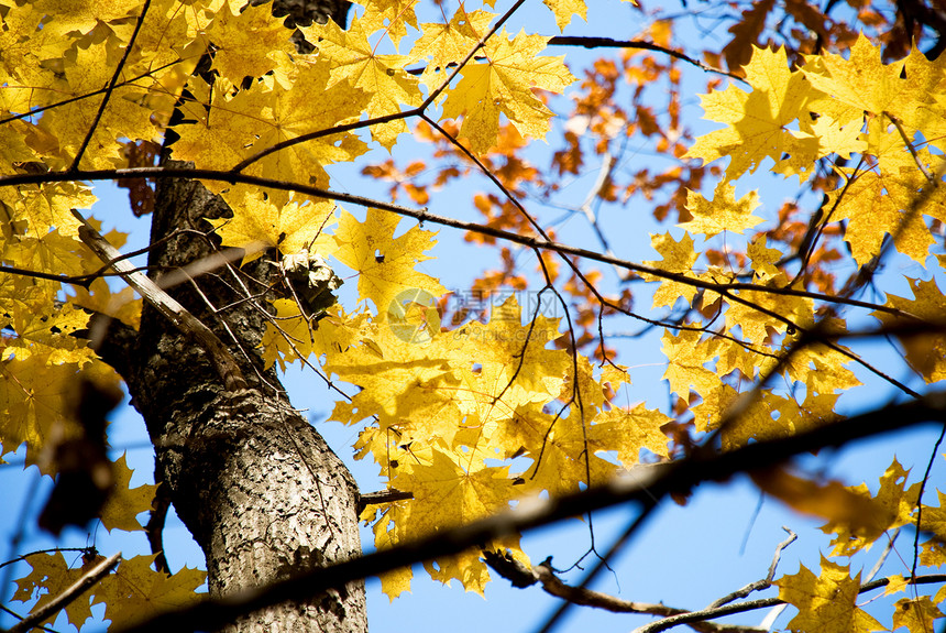
M 421 290 L 440 296 L 447 288 L 435 277 L 416 271 L 415 266 L 431 259 L 424 252 L 437 242 L 436 234 L 411 227 L 395 238 L 400 217 L 375 208 L 367 210 L 364 222 L 342 211 L 334 239 L 336 259 L 359 271 L 359 298 L 371 299 L 378 315 L 386 313 L 399 293 Z

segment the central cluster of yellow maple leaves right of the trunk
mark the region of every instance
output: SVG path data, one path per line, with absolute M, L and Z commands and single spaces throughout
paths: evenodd
M 560 337 L 558 319 L 528 314 L 522 325 L 510 297 L 493 306 L 488 324 L 441 330 L 432 301 L 444 288 L 415 269 L 429 259 L 432 233 L 415 227 L 395 238 L 397 225 L 371 209 L 364 222 L 343 214 L 333 234 L 336 258 L 360 271 L 359 296 L 374 314 L 336 308 L 310 332 L 295 302 L 279 301 L 263 341 L 270 362 L 312 354 L 329 375 L 361 388 L 332 417 L 376 421 L 361 433 L 359 457 L 372 457 L 391 487 L 414 494 L 366 511 L 378 547 L 487 516 L 524 495 L 603 483 L 637 465 L 641 449 L 668 456 L 660 427 L 670 418 L 608 400 L 629 381 L 620 368 L 579 361 L 575 375 L 571 356 L 548 345 Z M 513 458 L 520 458 L 516 471 L 495 465 Z M 524 556 L 515 541 L 494 545 Z M 488 579 L 475 553 L 428 570 L 481 592 Z M 382 580 L 394 597 L 409 579 L 405 569 Z

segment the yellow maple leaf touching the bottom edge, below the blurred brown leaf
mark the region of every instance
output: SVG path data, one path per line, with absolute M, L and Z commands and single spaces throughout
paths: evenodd
M 793 576 L 774 582 L 779 598 L 799 610 L 788 624 L 805 633 L 867 633 L 884 626 L 857 607 L 860 574 L 851 578 L 850 568 L 835 565 L 822 556 L 822 575 L 804 566 Z

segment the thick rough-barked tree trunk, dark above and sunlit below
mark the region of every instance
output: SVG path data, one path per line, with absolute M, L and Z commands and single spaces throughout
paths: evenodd
M 331 9 L 344 24 L 348 2 L 308 0 L 275 7 Z M 320 19 L 315 15 L 316 19 Z M 212 252 L 201 218 L 229 208 L 199 183 L 161 181 L 152 220 L 152 271 L 172 271 Z M 166 240 L 166 241 L 161 241 Z M 263 369 L 258 295 L 276 268 L 264 257 L 241 271 L 219 269 L 168 293 L 230 348 L 249 389 L 228 391 L 207 352 L 154 309 L 144 308 L 122 372 L 155 446 L 155 478 L 207 557 L 210 592 L 226 594 L 361 554 L 358 489 L 342 461 L 292 408 Z M 152 273 L 157 279 L 161 274 Z M 199 290 L 198 290 L 199 288 Z M 249 292 L 248 292 L 249 291 Z M 242 302 L 240 299 L 243 299 Z M 212 305 L 210 305 L 212 304 Z M 228 631 L 367 630 L 364 583 L 251 614 Z

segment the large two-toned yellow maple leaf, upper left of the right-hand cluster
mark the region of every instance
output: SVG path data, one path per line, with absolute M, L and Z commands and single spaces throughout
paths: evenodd
M 807 118 L 807 102 L 818 95 L 801 72 L 789 69 L 785 51 L 757 48 L 744 67 L 750 94 L 735 85 L 726 90 L 701 95 L 705 119 L 726 127 L 696 139 L 686 157 L 704 164 L 730 156 L 726 178 L 736 179 L 747 170 L 755 172 L 768 156 L 777 164 L 784 154 L 812 164 L 817 140 L 788 125 Z M 777 170 L 779 167 L 777 166 Z

